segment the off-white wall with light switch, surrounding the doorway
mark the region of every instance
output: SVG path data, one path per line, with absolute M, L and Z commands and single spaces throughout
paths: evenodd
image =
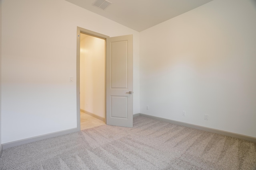
M 133 34 L 138 79 L 139 33 L 65 0 L 2 2 L 2 143 L 77 127 L 76 33 Z M 69 77 L 74 82 L 69 82 Z M 134 81 L 134 101 L 139 82 Z M 139 112 L 139 103 L 134 103 Z

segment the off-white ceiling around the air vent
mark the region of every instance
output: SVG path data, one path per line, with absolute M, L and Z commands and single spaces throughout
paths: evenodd
M 66 1 L 140 32 L 212 0 L 108 0 L 105 10 L 92 6 L 95 0 Z

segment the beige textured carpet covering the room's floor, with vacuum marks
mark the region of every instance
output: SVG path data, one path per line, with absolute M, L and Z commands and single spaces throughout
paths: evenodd
M 138 116 L 5 149 L 1 170 L 255 170 L 256 143 Z

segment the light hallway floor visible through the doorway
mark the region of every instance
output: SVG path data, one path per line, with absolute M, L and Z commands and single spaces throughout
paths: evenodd
M 100 125 L 106 125 L 106 123 L 84 112 L 80 112 L 80 129 L 81 130 L 97 127 Z

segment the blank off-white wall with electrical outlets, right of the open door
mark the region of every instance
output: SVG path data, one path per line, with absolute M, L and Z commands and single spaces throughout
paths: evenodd
M 255 1 L 214 0 L 140 32 L 141 113 L 256 137 L 255 30 Z

